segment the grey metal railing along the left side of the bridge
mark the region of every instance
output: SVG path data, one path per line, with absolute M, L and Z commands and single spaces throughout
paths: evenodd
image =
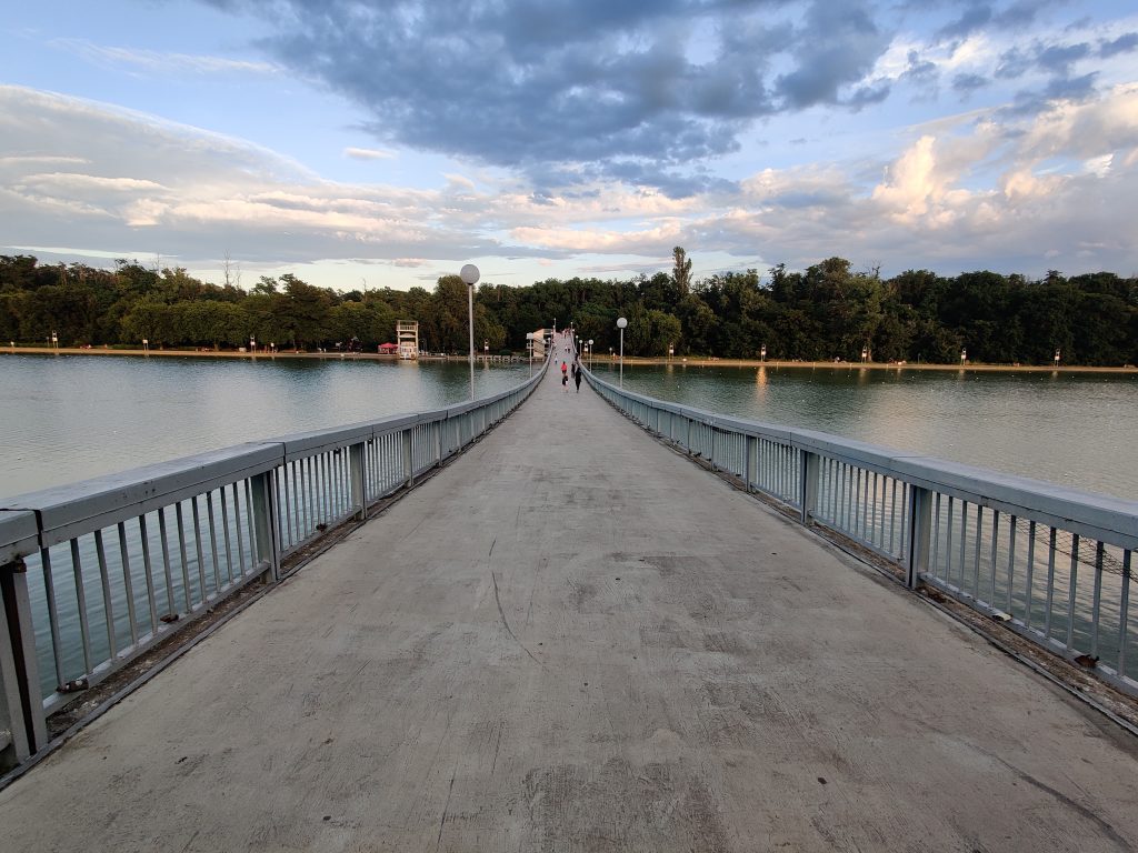
M 434 412 L 229 447 L 0 503 L 0 770 L 47 717 L 414 485 L 517 408 L 516 388 Z

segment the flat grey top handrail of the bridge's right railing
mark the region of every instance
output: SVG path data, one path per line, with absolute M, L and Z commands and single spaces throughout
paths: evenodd
M 1006 474 L 925 454 L 873 445 L 816 430 L 782 426 L 761 421 L 717 414 L 694 406 L 659 400 L 605 382 L 586 370 L 591 381 L 661 412 L 670 412 L 707 426 L 756 438 L 778 439 L 795 449 L 809 450 L 863 467 L 894 475 L 914 486 L 934 488 L 972 503 L 1008 511 L 1030 510 L 1065 527 L 1110 539 L 1125 548 L 1138 548 L 1138 502 L 1082 491 L 1066 486 Z

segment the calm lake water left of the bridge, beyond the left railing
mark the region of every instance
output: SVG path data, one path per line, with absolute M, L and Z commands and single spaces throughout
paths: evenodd
M 475 368 L 503 391 L 527 364 Z M 0 498 L 154 462 L 462 403 L 459 362 L 0 357 Z

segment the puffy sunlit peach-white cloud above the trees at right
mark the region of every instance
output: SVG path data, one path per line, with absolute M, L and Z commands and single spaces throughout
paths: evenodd
M 819 245 L 855 263 L 885 258 L 892 272 L 906 259 L 949 272 L 1136 268 L 1138 84 L 1062 102 L 1016 130 L 941 123 L 885 164 L 869 193 L 846 169 L 768 171 L 743 182 L 749 204 L 715 217 L 719 248 L 759 247 L 768 263 L 799 268 Z M 809 194 L 817 202 L 801 204 Z

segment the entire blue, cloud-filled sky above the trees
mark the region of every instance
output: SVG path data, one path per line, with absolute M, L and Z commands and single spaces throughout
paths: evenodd
M 0 38 L 5 255 L 1138 274 L 1138 0 L 61 0 Z

